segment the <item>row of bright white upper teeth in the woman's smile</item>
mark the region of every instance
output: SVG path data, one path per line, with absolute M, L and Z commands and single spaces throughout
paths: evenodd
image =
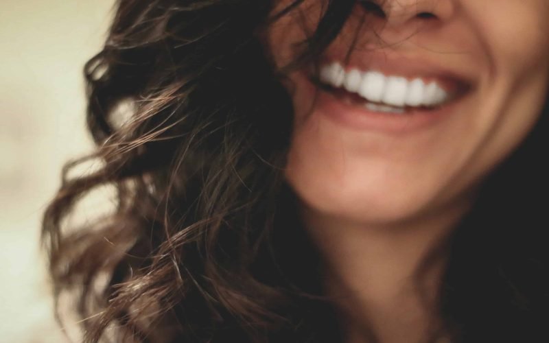
M 408 80 L 400 76 L 386 76 L 377 71 L 345 71 L 338 62 L 320 68 L 320 81 L 336 88 L 344 87 L 370 102 L 397 107 L 438 106 L 450 97 L 436 82 L 425 83 L 421 78 Z

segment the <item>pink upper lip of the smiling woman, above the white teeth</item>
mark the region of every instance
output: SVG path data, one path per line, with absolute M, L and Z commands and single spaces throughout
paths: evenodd
M 351 54 L 349 60 L 344 54 L 327 54 L 320 58 L 320 65 L 330 62 L 340 62 L 345 69 L 360 71 L 379 71 L 384 75 L 395 75 L 408 78 L 421 78 L 425 81 L 436 81 L 449 91 L 463 93 L 475 84 L 478 73 L 467 68 L 464 63 L 432 60 L 421 56 L 406 56 L 387 49 L 368 51 L 367 53 Z

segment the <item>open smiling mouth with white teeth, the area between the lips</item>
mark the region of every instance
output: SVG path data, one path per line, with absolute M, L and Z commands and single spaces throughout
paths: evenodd
M 386 75 L 381 71 L 345 70 L 339 62 L 320 66 L 310 80 L 345 104 L 374 113 L 430 112 L 454 102 L 469 86 L 455 78 Z

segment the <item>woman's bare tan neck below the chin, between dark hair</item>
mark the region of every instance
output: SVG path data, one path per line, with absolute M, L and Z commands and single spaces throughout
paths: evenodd
M 428 337 L 439 324 L 436 302 L 446 262 L 439 248 L 464 207 L 386 226 L 303 210 L 309 235 L 325 258 L 326 289 L 340 311 L 347 342 L 410 343 Z

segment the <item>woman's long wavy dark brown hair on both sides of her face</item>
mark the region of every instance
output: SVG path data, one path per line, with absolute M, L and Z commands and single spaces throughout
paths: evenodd
M 56 300 L 75 294 L 84 341 L 342 339 L 283 180 L 292 102 L 281 80 L 314 62 L 356 1 L 326 1 L 282 69 L 262 37 L 303 0 L 273 14 L 276 2 L 117 1 L 85 67 L 97 151 L 67 165 L 43 221 Z M 547 335 L 546 118 L 484 182 L 450 241 L 440 307 L 456 340 Z M 101 166 L 69 175 L 86 161 Z M 113 212 L 67 227 L 102 186 L 116 191 Z

